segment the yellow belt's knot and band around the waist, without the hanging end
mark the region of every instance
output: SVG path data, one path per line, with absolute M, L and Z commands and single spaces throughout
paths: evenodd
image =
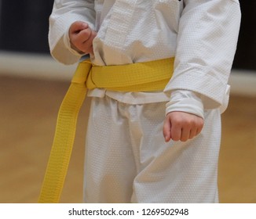
M 86 88 L 104 88 L 115 92 L 161 91 L 174 72 L 174 58 L 121 66 L 93 66 L 89 60 L 79 63 L 72 79 Z

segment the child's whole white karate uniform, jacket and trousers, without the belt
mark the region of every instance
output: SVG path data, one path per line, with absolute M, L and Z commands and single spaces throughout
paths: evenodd
M 49 46 L 61 63 L 78 62 L 68 28 L 97 31 L 93 63 L 141 63 L 175 56 L 159 92 L 93 89 L 86 137 L 87 203 L 218 202 L 221 111 L 240 29 L 238 0 L 55 0 Z M 204 118 L 187 142 L 164 142 L 166 113 Z

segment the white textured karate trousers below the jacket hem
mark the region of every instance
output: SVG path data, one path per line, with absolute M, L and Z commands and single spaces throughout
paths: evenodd
M 86 203 L 217 203 L 219 110 L 203 131 L 165 142 L 166 102 L 129 105 L 93 97 L 86 137 Z

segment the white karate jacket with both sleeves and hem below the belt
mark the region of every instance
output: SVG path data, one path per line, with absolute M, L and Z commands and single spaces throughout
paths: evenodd
M 82 20 L 97 31 L 91 55 L 96 65 L 175 56 L 174 76 L 164 92 L 95 89 L 89 95 L 130 104 L 170 101 L 166 113 L 185 106 L 182 111 L 203 117 L 203 110 L 227 105 L 240 16 L 238 0 L 55 0 L 49 47 L 61 63 L 78 62 L 81 54 L 70 48 L 68 29 Z

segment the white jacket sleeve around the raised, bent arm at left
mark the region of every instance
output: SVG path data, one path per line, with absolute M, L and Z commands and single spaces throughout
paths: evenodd
M 94 29 L 95 11 L 93 0 L 55 0 L 53 11 L 49 16 L 49 49 L 54 59 L 60 63 L 73 64 L 82 55 L 71 52 L 64 43 L 64 35 L 71 23 L 84 21 Z

